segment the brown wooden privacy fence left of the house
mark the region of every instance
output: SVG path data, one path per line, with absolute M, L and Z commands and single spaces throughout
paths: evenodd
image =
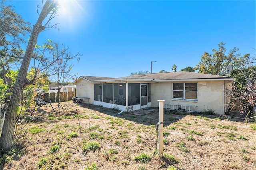
M 57 96 L 59 93 L 45 93 L 47 95 L 48 99 L 50 99 L 51 103 L 58 102 L 56 101 Z M 74 91 L 69 91 L 69 92 L 60 92 L 60 102 L 63 101 L 71 101 L 72 97 L 75 97 L 76 93 Z M 46 96 L 44 96 L 44 101 L 48 101 Z

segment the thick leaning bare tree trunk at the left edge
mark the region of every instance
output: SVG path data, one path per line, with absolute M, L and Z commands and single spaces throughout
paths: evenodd
M 8 150 L 12 146 L 12 137 L 15 126 L 16 112 L 18 106 L 20 105 L 20 100 L 22 99 L 23 89 L 29 83 L 26 79 L 26 75 L 28 72 L 30 60 L 33 55 L 38 35 L 42 30 L 44 30 L 42 22 L 46 18 L 47 14 L 49 14 L 52 11 L 53 8 L 54 5 L 52 4 L 52 0 L 47 0 L 32 30 L 30 40 L 28 42 L 28 46 L 26 48 L 26 52 L 20 67 L 20 71 L 18 73 L 18 77 L 13 87 L 13 95 L 11 96 L 10 102 L 8 104 L 8 108 L 6 111 L 6 119 L 2 128 L 0 144 L 1 148 L 3 148 L 4 150 Z

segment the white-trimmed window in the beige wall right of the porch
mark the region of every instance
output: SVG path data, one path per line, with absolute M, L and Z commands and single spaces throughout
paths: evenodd
M 172 98 L 197 100 L 197 83 L 172 83 Z

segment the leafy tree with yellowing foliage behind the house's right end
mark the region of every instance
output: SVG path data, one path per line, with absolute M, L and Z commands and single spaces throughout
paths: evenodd
M 253 77 L 253 74 L 256 71 L 256 67 L 254 66 L 255 57 L 252 57 L 248 53 L 241 56 L 236 47 L 226 54 L 224 45 L 225 43 L 223 42 L 218 44 L 218 50 L 212 49 L 213 54 L 204 52 L 200 63 L 198 63 L 194 69 L 198 70 L 199 73 L 227 75 L 223 70 L 231 64 L 233 70 L 230 72 L 229 76 L 234 78 L 234 86 L 244 91 L 244 87 L 247 86 L 247 83 L 243 74 L 246 73 L 248 74 L 248 77 Z

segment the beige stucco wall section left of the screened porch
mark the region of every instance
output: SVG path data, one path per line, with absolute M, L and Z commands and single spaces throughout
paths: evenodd
M 76 96 L 90 97 L 90 103 L 94 104 L 94 84 L 80 79 L 80 81 L 76 82 Z

